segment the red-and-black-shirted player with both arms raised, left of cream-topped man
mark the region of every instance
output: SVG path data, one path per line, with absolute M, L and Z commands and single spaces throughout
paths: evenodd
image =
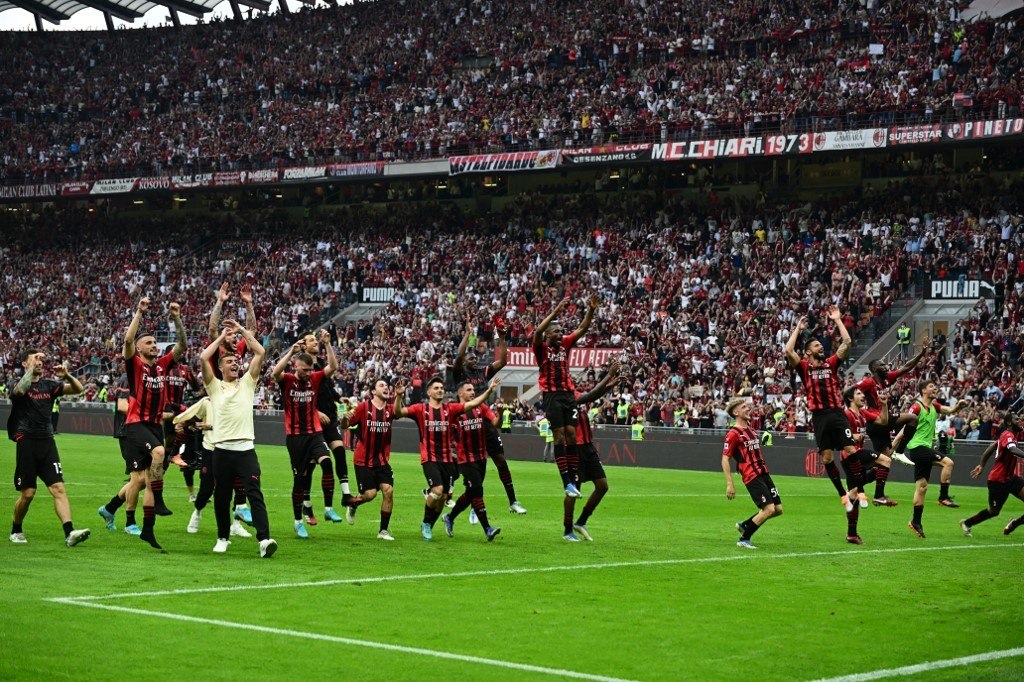
M 177 303 L 171 303 L 168 310 L 177 338 L 173 350 L 161 355 L 157 338 L 147 332 L 140 334 L 138 331 L 148 308 L 150 299 L 143 297 L 125 332 L 122 355 L 125 358 L 129 391 L 125 438 L 131 449 L 134 466 L 139 471 L 145 471 L 142 532 L 138 538 L 155 549 L 161 549 L 154 534 L 157 515 L 171 514 L 171 510 L 164 504 L 163 421 L 167 402 L 167 373 L 185 352 L 185 328 L 181 324 L 181 307 Z

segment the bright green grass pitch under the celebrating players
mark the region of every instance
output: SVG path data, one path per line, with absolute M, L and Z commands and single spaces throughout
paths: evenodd
M 1024 649 L 1005 653 L 1024 633 L 1024 535 L 1001 535 L 1024 506 L 1011 499 L 964 538 L 957 520 L 984 505 L 980 487 L 954 491 L 959 510 L 930 492 L 922 541 L 906 527 L 910 485 L 896 470 L 889 493 L 900 507 L 864 510 L 855 547 L 827 480 L 776 477 L 785 514 L 752 552 L 735 546 L 732 526 L 754 506 L 741 486 L 727 501 L 720 473 L 609 467 L 611 491 L 589 524 L 595 542 L 568 544 L 553 465 L 513 462 L 527 515 L 507 513 L 492 468 L 501 537 L 486 543 L 463 515 L 454 539 L 438 523 L 425 543 L 418 460 L 395 456 L 397 542 L 376 539 L 376 502 L 356 525 L 322 520 L 300 541 L 287 455 L 263 446 L 280 549 L 260 560 L 255 539 L 211 553 L 212 507 L 201 534 L 185 532 L 176 471 L 166 493 L 174 516 L 157 526 L 166 554 L 106 531 L 96 508 L 123 479 L 115 442 L 57 441 L 76 525 L 92 537 L 67 549 L 43 489 L 29 544 L 0 544 L 0 679 L 812 680 L 988 652 L 1004 653 L 906 679 L 1024 679 Z M 5 532 L 13 459 L 4 446 Z M 53 601 L 76 597 L 91 598 Z

